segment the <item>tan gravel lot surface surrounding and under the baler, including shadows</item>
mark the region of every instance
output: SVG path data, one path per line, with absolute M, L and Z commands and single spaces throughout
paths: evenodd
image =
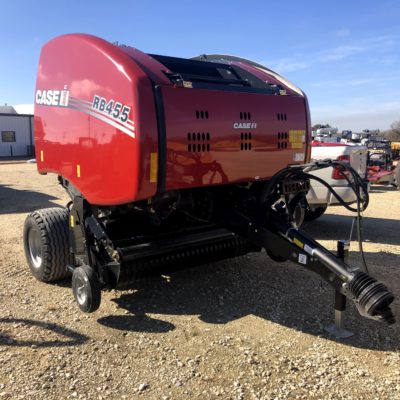
M 354 336 L 335 340 L 331 288 L 264 253 L 138 281 L 82 314 L 70 281 L 36 281 L 23 254 L 26 215 L 66 201 L 34 164 L 0 165 L 0 399 L 400 399 L 399 323 L 349 305 Z M 334 250 L 349 215 L 305 228 Z M 399 215 L 400 192 L 373 187 L 364 250 L 400 321 Z

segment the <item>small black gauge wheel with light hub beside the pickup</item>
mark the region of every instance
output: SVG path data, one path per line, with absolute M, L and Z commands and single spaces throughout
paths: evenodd
M 81 311 L 92 313 L 101 302 L 101 286 L 96 272 L 87 265 L 74 269 L 72 274 L 72 291 Z

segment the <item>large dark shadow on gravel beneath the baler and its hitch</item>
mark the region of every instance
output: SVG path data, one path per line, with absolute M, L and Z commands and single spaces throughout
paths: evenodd
M 397 256 L 396 265 L 399 263 Z M 388 270 L 379 275 L 386 272 L 390 276 L 386 276 L 384 282 L 390 282 L 392 289 L 397 288 L 399 298 L 400 274 Z M 277 264 L 265 253 L 175 271 L 168 276 L 150 276 L 137 281 L 133 293 L 117 291 L 113 301 L 129 313 L 106 316 L 98 322 L 118 330 L 165 332 L 175 328 L 162 317 L 151 314 L 198 316 L 209 324 L 225 324 L 255 315 L 335 340 L 324 331 L 324 327 L 333 322 L 333 289 L 312 272 L 289 263 Z M 398 301 L 394 313 L 400 319 Z M 353 304 L 346 312 L 346 328 L 356 333 L 344 341 L 346 344 L 400 351 L 398 325 L 388 327 L 363 318 Z

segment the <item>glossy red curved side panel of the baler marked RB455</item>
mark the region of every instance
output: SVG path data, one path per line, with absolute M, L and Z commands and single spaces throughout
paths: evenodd
M 158 137 L 152 90 L 140 67 L 106 41 L 65 35 L 47 43 L 35 99 L 39 172 L 63 176 L 92 204 L 153 196 Z

